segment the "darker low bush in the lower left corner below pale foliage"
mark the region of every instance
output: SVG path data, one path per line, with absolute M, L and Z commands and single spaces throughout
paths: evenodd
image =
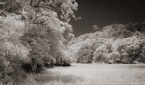
M 0 55 L 0 81 L 4 85 L 19 82 L 27 78 L 27 73 L 21 67 L 25 60 L 22 60 L 20 56 L 14 56 L 4 51 Z

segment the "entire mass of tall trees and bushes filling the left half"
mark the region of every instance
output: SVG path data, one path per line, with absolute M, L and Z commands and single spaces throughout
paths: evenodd
M 75 0 L 0 0 L 0 81 L 16 83 L 44 66 L 69 66 L 64 51 L 75 10 Z

